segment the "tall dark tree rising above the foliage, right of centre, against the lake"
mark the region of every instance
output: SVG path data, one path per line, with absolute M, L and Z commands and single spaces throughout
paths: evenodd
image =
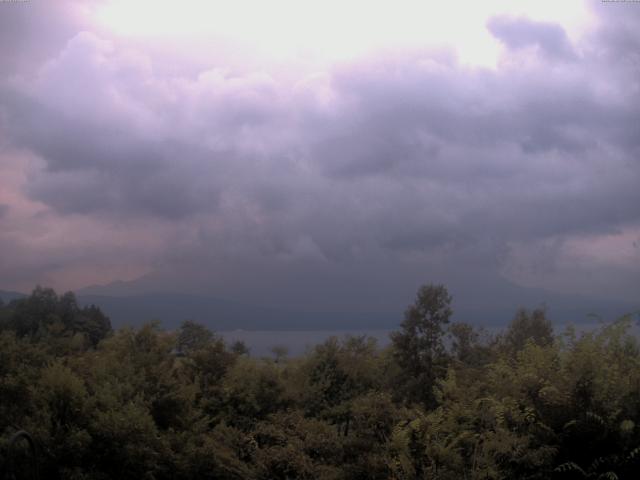
M 405 400 L 434 406 L 433 387 L 445 372 L 443 327 L 452 313 L 451 295 L 444 285 L 423 285 L 405 311 L 402 330 L 391 334 Z

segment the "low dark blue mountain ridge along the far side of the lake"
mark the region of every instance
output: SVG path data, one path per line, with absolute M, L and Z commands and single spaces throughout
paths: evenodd
M 502 326 L 513 318 L 519 307 L 532 309 L 543 304 L 548 308 L 549 318 L 558 324 L 593 323 L 598 317 L 609 320 L 640 310 L 640 304 L 560 295 L 512 284 L 490 288 L 459 292 L 452 289 L 453 320 L 487 327 Z M 403 308 L 314 311 L 267 307 L 208 295 L 144 292 L 135 281 L 89 287 L 78 290 L 76 294 L 80 305 L 99 306 L 114 327 L 160 320 L 165 328 L 175 328 L 184 320 L 195 320 L 218 331 L 375 330 L 395 329 L 403 318 Z M 25 296 L 20 292 L 0 290 L 0 298 L 4 302 Z

